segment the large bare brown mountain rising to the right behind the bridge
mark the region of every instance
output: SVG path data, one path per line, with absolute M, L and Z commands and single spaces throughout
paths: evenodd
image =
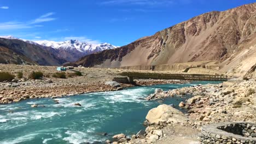
M 74 64 L 108 68 L 217 60 L 223 71 L 247 73 L 256 64 L 255 26 L 256 3 L 212 11 Z

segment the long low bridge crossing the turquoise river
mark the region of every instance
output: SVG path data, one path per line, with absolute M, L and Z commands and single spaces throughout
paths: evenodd
M 167 73 L 139 73 L 123 72 L 121 76 L 126 76 L 126 80 L 133 83 L 134 79 L 167 79 L 167 80 L 193 80 L 193 81 L 228 81 L 225 75 L 203 75 L 203 74 L 167 74 Z M 128 78 L 128 79 L 127 79 Z M 116 81 L 124 81 L 115 77 Z

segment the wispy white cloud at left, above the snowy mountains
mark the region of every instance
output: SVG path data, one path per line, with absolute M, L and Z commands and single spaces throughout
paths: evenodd
M 10 30 L 10 29 L 27 29 L 27 28 L 34 28 L 34 27 L 43 27 L 43 25 L 34 25 L 37 23 L 47 22 L 56 20 L 53 17 L 49 17 L 54 13 L 47 13 L 44 14 L 37 19 L 28 21 L 28 22 L 17 22 L 17 21 L 8 21 L 0 23 L 0 30 Z

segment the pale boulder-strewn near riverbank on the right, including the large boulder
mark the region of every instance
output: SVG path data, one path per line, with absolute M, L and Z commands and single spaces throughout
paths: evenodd
M 218 122 L 256 122 L 255 91 L 255 80 L 197 85 L 170 91 L 156 89 L 146 100 L 190 95 L 191 98 L 179 104 L 187 109 L 187 113 L 170 105 L 160 105 L 148 112 L 144 122 L 148 125 L 146 130 L 132 135 L 131 139 L 125 138 L 126 136 L 115 139 L 117 142 L 113 143 L 211 143 L 202 141 L 199 137 L 204 125 Z M 177 133 L 177 129 L 183 131 Z

